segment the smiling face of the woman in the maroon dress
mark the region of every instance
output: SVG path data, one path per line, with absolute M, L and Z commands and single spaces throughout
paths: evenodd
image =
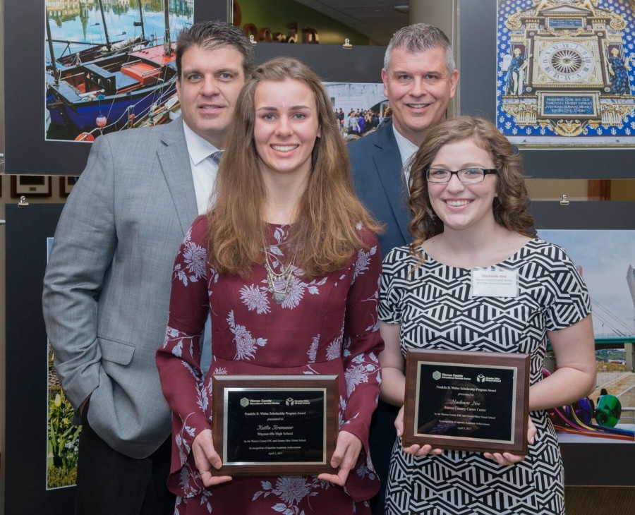
M 315 94 L 299 80 L 263 80 L 254 95 L 253 139 L 263 175 L 295 174 L 311 169 L 311 153 L 320 137 Z

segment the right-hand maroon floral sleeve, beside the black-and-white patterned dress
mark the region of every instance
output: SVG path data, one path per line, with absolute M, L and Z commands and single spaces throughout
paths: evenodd
M 377 354 L 384 348 L 377 324 L 382 261 L 377 236 L 365 231 L 366 249 L 358 251 L 353 281 L 346 298 L 344 319 L 344 378 L 346 397 L 340 394 L 341 429 L 356 435 L 368 454 L 370 418 L 377 407 L 381 383 Z

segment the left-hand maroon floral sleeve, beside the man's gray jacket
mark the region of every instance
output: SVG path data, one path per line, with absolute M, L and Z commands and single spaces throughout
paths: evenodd
M 198 217 L 174 260 L 170 311 L 165 339 L 157 351 L 157 368 L 165 399 L 173 413 L 173 435 L 185 463 L 196 435 L 210 428 L 210 403 L 203 389 L 200 337 L 209 311 L 205 240 L 207 221 Z

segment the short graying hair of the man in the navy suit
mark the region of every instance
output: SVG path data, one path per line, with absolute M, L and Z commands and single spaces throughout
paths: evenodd
M 445 32 L 434 25 L 415 23 L 397 30 L 386 47 L 386 54 L 384 55 L 384 68 L 386 71 L 390 67 L 390 54 L 396 48 L 404 49 L 407 52 L 427 52 L 431 49 L 442 49 L 445 51 L 447 71 L 452 73 L 456 70 L 454 54 L 452 54 L 452 43 L 450 43 Z

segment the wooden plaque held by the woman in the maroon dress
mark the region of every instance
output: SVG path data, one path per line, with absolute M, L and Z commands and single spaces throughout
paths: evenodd
M 214 375 L 212 388 L 214 475 L 337 473 L 337 375 Z

